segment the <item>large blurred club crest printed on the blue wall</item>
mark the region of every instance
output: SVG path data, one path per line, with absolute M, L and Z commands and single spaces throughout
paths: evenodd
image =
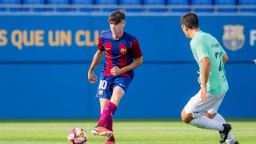
M 224 34 L 222 42 L 228 50 L 240 50 L 245 44 L 244 26 L 242 25 L 224 25 Z

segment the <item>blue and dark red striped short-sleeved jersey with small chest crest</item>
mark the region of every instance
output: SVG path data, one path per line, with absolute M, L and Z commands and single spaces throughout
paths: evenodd
M 105 76 L 112 75 L 110 70 L 114 66 L 118 66 L 121 69 L 130 65 L 134 58 L 142 56 L 138 39 L 125 31 L 118 40 L 114 40 L 111 30 L 103 32 L 98 38 L 98 50 L 105 50 L 106 61 L 102 68 L 102 73 Z M 128 77 L 129 75 L 133 76 L 134 71 L 130 70 L 120 76 Z

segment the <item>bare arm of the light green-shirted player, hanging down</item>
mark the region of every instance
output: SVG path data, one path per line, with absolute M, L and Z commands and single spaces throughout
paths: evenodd
M 201 98 L 202 98 L 202 102 L 206 102 L 207 82 L 210 75 L 210 58 L 209 57 L 202 58 L 201 63 L 202 63 Z

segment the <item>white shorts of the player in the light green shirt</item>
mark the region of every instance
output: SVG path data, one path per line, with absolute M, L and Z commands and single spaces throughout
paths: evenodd
M 202 102 L 201 91 L 195 94 L 194 97 L 190 98 L 187 102 L 184 110 L 186 114 L 192 114 L 193 118 L 199 117 L 201 115 L 217 113 L 218 107 L 221 105 L 225 94 L 207 94 L 206 102 Z

